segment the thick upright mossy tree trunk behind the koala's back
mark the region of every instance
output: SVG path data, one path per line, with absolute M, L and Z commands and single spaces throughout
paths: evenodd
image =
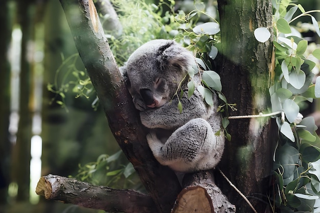
M 253 115 L 265 112 L 272 72 L 272 41 L 258 42 L 254 30 L 272 25 L 271 1 L 218 0 L 221 28 L 219 72 L 223 94 L 238 111 L 230 115 Z M 272 30 L 272 28 L 269 28 Z M 272 34 L 272 33 L 271 33 Z M 230 89 L 231 88 L 231 89 Z M 220 168 L 248 197 L 258 212 L 267 208 L 265 197 L 272 166 L 272 141 L 269 119 L 230 120 L 227 142 Z M 237 211 L 252 209 L 227 183 L 223 190 Z

